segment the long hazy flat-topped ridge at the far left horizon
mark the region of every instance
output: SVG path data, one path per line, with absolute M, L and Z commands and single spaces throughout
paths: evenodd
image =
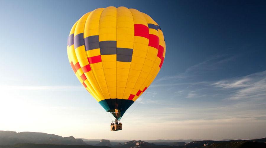
M 17 143 L 87 145 L 83 140 L 75 139 L 73 136 L 61 137 L 47 133 L 0 131 L 0 145 Z

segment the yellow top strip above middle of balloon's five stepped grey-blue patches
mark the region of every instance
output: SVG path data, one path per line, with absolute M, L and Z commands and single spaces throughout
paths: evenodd
M 90 13 L 85 23 L 84 38 L 99 35 L 99 22 L 103 10 L 104 8 L 98 8 Z

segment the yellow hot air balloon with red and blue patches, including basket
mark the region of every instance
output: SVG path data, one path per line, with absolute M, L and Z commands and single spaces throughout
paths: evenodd
M 78 80 L 116 120 L 153 82 L 165 52 L 160 26 L 149 15 L 126 7 L 86 13 L 73 25 L 67 42 Z

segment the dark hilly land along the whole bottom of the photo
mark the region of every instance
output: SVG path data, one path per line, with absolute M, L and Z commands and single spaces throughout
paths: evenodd
M 187 143 L 172 142 L 171 140 L 151 140 L 154 143 L 141 140 L 126 142 L 107 139 L 93 140 L 97 139 L 88 140 L 85 143 L 82 139 L 75 139 L 73 136 L 61 137 L 47 133 L 0 131 L 0 148 L 266 148 L 266 138 L 221 141 L 197 140 Z M 90 144 L 88 145 L 88 143 Z

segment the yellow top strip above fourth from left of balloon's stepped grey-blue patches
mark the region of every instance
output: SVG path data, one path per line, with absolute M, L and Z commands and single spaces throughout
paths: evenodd
M 116 41 L 116 7 L 107 7 L 100 15 L 99 41 Z

